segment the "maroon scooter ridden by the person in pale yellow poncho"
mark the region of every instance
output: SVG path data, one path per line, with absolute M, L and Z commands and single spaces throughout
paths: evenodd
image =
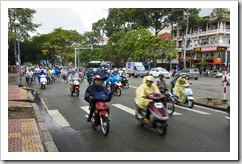
M 138 106 L 137 99 L 135 99 L 135 117 L 140 126 L 147 125 L 151 128 L 155 128 L 159 135 L 164 136 L 167 132 L 167 120 L 169 115 L 161 99 L 163 98 L 160 93 L 152 93 L 148 95 L 149 99 L 153 101 L 148 104 L 150 111 L 149 123 L 144 121 L 146 111 Z

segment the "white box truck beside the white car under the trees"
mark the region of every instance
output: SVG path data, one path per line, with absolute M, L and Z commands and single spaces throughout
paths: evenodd
M 142 62 L 126 62 L 126 72 L 129 77 L 144 77 L 148 75 L 148 71 L 145 70 L 145 67 Z

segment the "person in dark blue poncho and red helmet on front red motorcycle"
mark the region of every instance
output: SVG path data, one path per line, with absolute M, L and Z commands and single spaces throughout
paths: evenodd
M 96 102 L 109 102 L 112 98 L 112 93 L 104 86 L 101 85 L 102 77 L 95 75 L 93 77 L 94 84 L 89 86 L 85 91 L 84 99 L 89 102 L 90 113 L 87 122 L 91 121 Z

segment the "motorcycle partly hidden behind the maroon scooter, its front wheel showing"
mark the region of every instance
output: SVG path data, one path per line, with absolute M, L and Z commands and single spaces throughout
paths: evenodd
M 177 103 L 177 99 L 168 91 L 168 89 L 161 89 L 160 92 L 166 96 L 166 108 L 168 114 L 171 116 L 175 111 L 175 103 Z

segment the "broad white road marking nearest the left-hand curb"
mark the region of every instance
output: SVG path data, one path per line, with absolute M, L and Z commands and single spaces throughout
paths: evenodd
M 50 114 L 51 118 L 55 125 L 60 127 L 68 127 L 70 124 L 66 121 L 66 119 L 62 116 L 62 114 L 57 110 L 49 110 L 48 113 Z

